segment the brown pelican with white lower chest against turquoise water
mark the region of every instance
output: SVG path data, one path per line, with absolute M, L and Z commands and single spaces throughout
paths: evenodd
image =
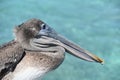
M 0 47 L 0 80 L 35 80 L 56 69 L 65 52 L 90 62 L 103 60 L 65 39 L 39 19 L 15 27 L 15 40 Z

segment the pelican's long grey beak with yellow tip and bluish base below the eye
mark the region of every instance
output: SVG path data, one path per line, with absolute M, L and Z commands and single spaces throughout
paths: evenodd
M 48 43 L 48 44 L 59 45 L 59 46 L 62 46 L 66 52 L 68 52 L 68 53 L 70 53 L 78 58 L 81 58 L 83 60 L 90 61 L 90 62 L 103 63 L 102 59 L 100 59 L 96 55 L 88 52 L 87 50 L 82 49 L 81 47 L 79 47 L 75 43 L 65 39 L 61 35 L 57 34 L 49 26 L 46 26 L 45 30 L 44 29 L 41 30 L 39 35 L 41 35 L 41 38 L 39 38 L 39 40 L 37 40 L 38 43 L 41 43 L 41 44 Z M 42 38 L 42 36 L 44 38 Z

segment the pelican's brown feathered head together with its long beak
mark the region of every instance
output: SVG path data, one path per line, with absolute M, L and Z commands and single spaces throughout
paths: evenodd
M 48 51 L 50 46 L 61 46 L 64 50 L 80 59 L 103 63 L 103 60 L 89 51 L 79 47 L 58 34 L 53 28 L 39 19 L 31 19 L 14 30 L 17 41 L 26 50 Z

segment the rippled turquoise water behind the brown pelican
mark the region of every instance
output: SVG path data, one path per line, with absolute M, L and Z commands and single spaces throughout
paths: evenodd
M 31 18 L 105 61 L 90 63 L 66 53 L 63 64 L 43 80 L 120 80 L 119 0 L 0 0 L 0 44 L 12 40 L 13 28 Z

